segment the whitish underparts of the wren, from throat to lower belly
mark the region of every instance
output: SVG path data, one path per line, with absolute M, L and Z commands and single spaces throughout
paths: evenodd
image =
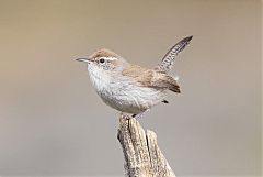
M 140 113 L 165 98 L 164 90 L 140 87 L 127 77 L 111 77 L 104 70 L 88 68 L 98 95 L 112 108 Z

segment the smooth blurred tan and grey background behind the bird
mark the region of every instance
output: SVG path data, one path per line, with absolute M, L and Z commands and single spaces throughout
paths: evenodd
M 194 38 L 181 95 L 141 120 L 178 176 L 261 176 L 261 1 L 0 0 L 0 175 L 123 176 L 118 112 L 75 62 L 153 67 Z

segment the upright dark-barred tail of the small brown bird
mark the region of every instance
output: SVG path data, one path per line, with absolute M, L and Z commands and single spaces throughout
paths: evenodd
M 193 35 L 181 40 L 176 43 L 162 58 L 161 64 L 159 64 L 155 69 L 159 71 L 168 73 L 171 70 L 173 60 L 178 56 L 178 54 L 184 49 L 184 47 L 190 43 L 193 38 Z

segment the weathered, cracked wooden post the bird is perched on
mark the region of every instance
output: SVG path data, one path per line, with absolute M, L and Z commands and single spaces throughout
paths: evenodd
M 175 177 L 157 144 L 155 132 L 145 130 L 134 118 L 121 115 L 118 141 L 127 177 Z

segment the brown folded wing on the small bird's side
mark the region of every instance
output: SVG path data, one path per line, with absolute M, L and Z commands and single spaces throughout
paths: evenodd
M 132 65 L 123 70 L 123 75 L 133 78 L 139 85 L 159 89 L 169 89 L 174 92 L 180 92 L 180 87 L 176 80 L 167 75 L 153 69 L 146 69 L 137 65 Z

